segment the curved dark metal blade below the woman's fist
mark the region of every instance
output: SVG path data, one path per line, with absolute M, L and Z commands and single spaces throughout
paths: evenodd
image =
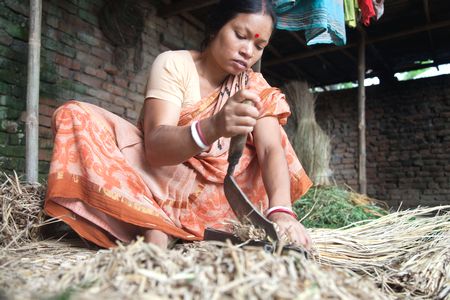
M 274 224 L 266 219 L 266 217 L 264 217 L 247 198 L 237 185 L 233 176 L 225 176 L 224 192 L 231 209 L 236 214 L 239 221 L 243 223 L 250 222 L 252 225 L 264 229 L 266 234 L 272 238 L 272 240 L 279 240 Z

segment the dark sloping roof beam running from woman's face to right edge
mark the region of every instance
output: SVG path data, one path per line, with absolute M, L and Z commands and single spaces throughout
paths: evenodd
M 383 41 L 387 41 L 387 40 L 396 39 L 399 37 L 404 37 L 404 36 L 420 33 L 420 32 L 427 31 L 427 30 L 433 30 L 433 29 L 443 28 L 443 27 L 448 27 L 448 26 L 450 26 L 449 20 L 426 24 L 421 27 L 400 31 L 397 33 L 393 33 L 390 35 L 385 35 L 385 36 L 381 36 L 381 37 L 377 37 L 377 38 L 368 39 L 366 41 L 366 44 L 375 44 L 375 43 L 379 43 L 379 42 L 383 42 Z M 323 48 L 313 50 L 313 51 L 307 51 L 307 52 L 302 52 L 302 53 L 298 53 L 298 54 L 288 55 L 285 57 L 276 58 L 276 59 L 273 59 L 270 61 L 266 61 L 264 64 L 266 66 L 273 66 L 273 65 L 277 65 L 277 64 L 281 64 L 281 63 L 287 63 L 287 62 L 290 62 L 293 60 L 301 60 L 304 58 L 312 57 L 315 55 L 320 55 L 323 53 L 329 53 L 329 52 L 340 51 L 343 49 L 353 48 L 356 46 L 358 46 L 357 43 L 352 43 L 352 44 L 348 44 L 348 45 L 340 46 L 340 47 L 323 47 Z

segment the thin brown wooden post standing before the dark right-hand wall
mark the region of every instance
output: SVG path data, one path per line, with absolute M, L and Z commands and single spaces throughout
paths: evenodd
M 366 73 L 366 36 L 360 29 L 358 45 L 358 128 L 359 128 L 359 192 L 367 194 L 366 179 L 366 88 L 364 79 Z

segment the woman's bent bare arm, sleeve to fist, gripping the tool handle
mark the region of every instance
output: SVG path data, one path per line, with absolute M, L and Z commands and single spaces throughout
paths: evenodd
M 244 100 L 251 100 L 256 107 L 242 103 Z M 251 132 L 259 116 L 259 100 L 259 96 L 251 91 L 239 91 L 216 115 L 200 120 L 207 145 L 222 136 Z M 176 165 L 202 150 L 194 142 L 190 126 L 177 126 L 180 107 L 169 101 L 150 98 L 145 101 L 143 109 L 145 155 L 150 165 Z

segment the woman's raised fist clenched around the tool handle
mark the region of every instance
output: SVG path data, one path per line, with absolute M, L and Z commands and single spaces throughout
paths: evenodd
M 259 117 L 260 101 L 259 95 L 250 90 L 240 90 L 230 97 L 213 118 L 218 135 L 232 137 L 252 132 Z

